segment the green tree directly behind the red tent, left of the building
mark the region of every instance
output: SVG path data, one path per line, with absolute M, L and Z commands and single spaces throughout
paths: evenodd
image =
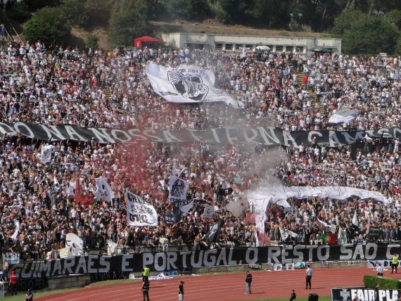
M 108 34 L 117 45 L 132 45 L 134 37 L 151 34 L 146 0 L 118 0 L 111 13 Z

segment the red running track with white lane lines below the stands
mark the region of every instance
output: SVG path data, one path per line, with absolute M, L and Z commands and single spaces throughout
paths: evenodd
M 245 293 L 245 273 L 216 274 L 207 276 L 184 276 L 169 280 L 153 280 L 150 298 L 152 301 L 178 300 L 179 281 L 184 280 L 185 301 L 218 300 L 234 301 L 265 298 L 285 298 L 295 290 L 297 297 L 307 297 L 310 293 L 320 296 L 330 295 L 331 288 L 362 286 L 366 274 L 376 274 L 371 268 L 314 269 L 312 290 L 305 290 L 305 269 L 295 271 L 258 271 L 253 272 L 252 295 Z M 385 276 L 401 278 L 401 274 Z M 82 288 L 69 293 L 35 297 L 35 301 L 132 301 L 143 300 L 141 281 L 96 288 Z

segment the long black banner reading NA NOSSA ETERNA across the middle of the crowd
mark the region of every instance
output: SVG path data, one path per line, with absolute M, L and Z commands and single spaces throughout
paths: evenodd
M 298 131 L 286 132 L 276 127 L 221 127 L 205 130 L 181 129 L 158 131 L 153 129 L 111 129 L 77 127 L 72 124 L 46 125 L 27 122 L 0 122 L 0 136 L 21 134 L 42 141 L 94 141 L 96 143 L 148 142 L 193 142 L 210 144 L 253 143 L 265 146 L 310 146 L 312 139 L 329 147 L 348 146 L 360 143 L 368 137 L 401 139 L 401 128 L 391 127 L 369 131 Z M 93 138 L 93 139 L 92 139 Z

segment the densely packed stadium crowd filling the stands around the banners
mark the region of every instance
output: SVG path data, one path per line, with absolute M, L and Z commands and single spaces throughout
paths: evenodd
M 146 64 L 180 64 L 215 69 L 215 86 L 227 89 L 245 108 L 225 103 L 171 104 L 153 91 Z M 101 50 L 36 44 L 11 44 L 0 52 L 1 122 L 76 124 L 79 127 L 139 129 L 208 129 L 224 126 L 276 126 L 286 131 L 319 130 L 333 111 L 348 106 L 360 111 L 338 129 L 397 127 L 401 120 L 400 58 L 353 58 L 316 53 L 303 60 L 292 53 L 212 53 L 189 49 Z M 302 77 L 303 84 L 298 84 Z M 312 105 L 312 89 L 324 106 Z M 110 95 L 108 95 L 110 91 Z M 310 91 L 310 90 L 309 90 Z M 51 162 L 41 161 L 43 146 L 53 144 Z M 349 241 L 368 239 L 369 226 L 383 226 L 383 240 L 401 238 L 399 141 L 367 137 L 352 147 L 289 146 L 272 151 L 261 146 L 214 146 L 195 143 L 100 144 L 94 141 L 37 141 L 2 136 L 2 252 L 20 260 L 59 257 L 67 233 L 83 239 L 86 250 L 105 248 L 107 241 L 128 252 L 141 247 L 167 250 L 237 245 L 269 245 L 284 241 L 280 228 L 297 233 L 286 243 L 324 243 L 324 224 L 348 229 Z M 272 155 L 274 154 L 274 155 Z M 279 162 L 277 155 L 284 159 Z M 173 224 L 168 183 L 172 170 L 191 181 L 189 214 Z M 103 177 L 116 196 L 129 190 L 155 206 L 157 227 L 127 225 L 124 200 L 115 208 L 95 198 L 95 179 Z M 258 233 L 246 191 L 263 179 L 287 186 L 352 186 L 380 191 L 388 204 L 350 198 L 343 202 L 311 198 L 289 200 L 287 212 L 272 205 L 266 231 Z M 227 209 L 235 203 L 241 213 Z M 215 207 L 213 219 L 203 206 Z M 238 207 L 236 206 L 236 207 Z M 359 231 L 350 231 L 357 210 Z M 225 223 L 211 245 L 207 234 L 219 219 Z M 322 223 L 323 222 L 323 223 Z M 143 249 L 142 249 L 143 250 Z

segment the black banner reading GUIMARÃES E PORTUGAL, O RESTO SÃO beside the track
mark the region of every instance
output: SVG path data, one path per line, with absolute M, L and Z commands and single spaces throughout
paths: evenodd
M 117 256 L 87 255 L 41 262 L 12 264 L 9 269 L 19 278 L 46 278 L 68 274 L 96 274 L 101 279 L 110 273 L 196 269 L 238 264 L 287 264 L 297 262 L 390 260 L 401 252 L 400 244 L 366 245 L 286 245 L 260 248 L 211 249 L 187 252 L 135 253 Z M 281 267 L 283 267 L 281 265 Z M 292 266 L 291 266 L 292 267 Z

